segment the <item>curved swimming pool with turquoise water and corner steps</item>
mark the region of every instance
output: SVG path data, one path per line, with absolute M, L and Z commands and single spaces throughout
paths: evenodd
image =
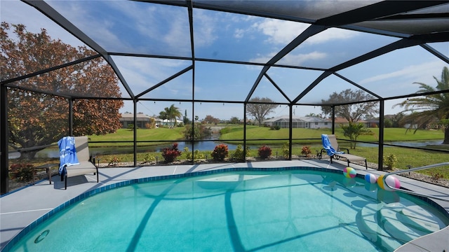
M 81 195 L 11 251 L 393 251 L 449 225 L 410 195 L 341 171 L 141 179 Z

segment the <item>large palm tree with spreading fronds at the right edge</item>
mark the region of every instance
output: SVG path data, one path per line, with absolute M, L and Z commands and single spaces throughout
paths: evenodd
M 417 124 L 417 128 L 431 125 L 436 120 L 438 126 L 444 130 L 443 144 L 449 144 L 449 69 L 447 66 L 443 67 L 441 73 L 441 80 L 435 76 L 436 87 L 431 87 L 425 83 L 414 83 L 420 85 L 420 90 L 416 93 L 436 93 L 427 94 L 424 97 L 414 97 L 407 99 L 400 104 L 394 106 L 401 106 L 404 112 L 411 112 L 410 115 L 403 118 L 408 122 Z M 416 132 L 416 130 L 415 130 Z

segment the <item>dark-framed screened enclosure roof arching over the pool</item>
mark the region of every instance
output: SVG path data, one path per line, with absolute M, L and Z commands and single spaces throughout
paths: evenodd
M 399 99 L 415 94 L 414 82 L 434 85 L 433 76 L 449 64 L 449 1 L 8 2 L 1 1 L 2 21 L 10 21 L 4 14 L 13 4 L 29 5 L 65 29 L 64 42 L 95 50 L 119 78 L 121 97 L 112 98 L 268 97 L 314 106 L 351 89 L 373 100 Z M 20 20 L 27 27 L 41 23 L 30 15 Z M 42 66 L 1 84 L 20 87 L 22 78 L 60 67 Z M 351 102 L 361 101 L 340 104 Z

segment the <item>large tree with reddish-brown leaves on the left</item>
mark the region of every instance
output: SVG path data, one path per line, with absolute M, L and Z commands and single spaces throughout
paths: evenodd
M 6 22 L 0 26 L 0 44 L 1 80 L 96 55 L 86 47 L 74 48 L 53 40 L 45 29 L 33 34 L 24 25 Z M 13 148 L 45 148 L 67 135 L 69 99 L 65 97 L 121 97 L 114 71 L 100 57 L 11 84 L 13 87 L 8 88 L 8 142 Z M 74 135 L 116 132 L 121 127 L 119 109 L 122 106 L 123 101 L 119 100 L 74 99 Z M 42 148 L 21 153 L 20 158 L 34 158 Z

